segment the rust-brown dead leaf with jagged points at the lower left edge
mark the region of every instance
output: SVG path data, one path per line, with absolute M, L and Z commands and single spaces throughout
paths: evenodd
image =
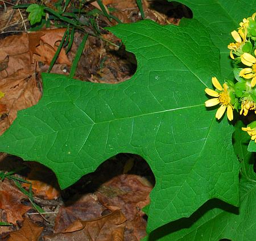
M 0 209 L 5 210 L 7 222 L 16 224 L 16 221 L 22 221 L 22 215 L 31 209 L 20 202 L 22 198 L 27 196 L 11 185 L 7 179 L 0 181 Z

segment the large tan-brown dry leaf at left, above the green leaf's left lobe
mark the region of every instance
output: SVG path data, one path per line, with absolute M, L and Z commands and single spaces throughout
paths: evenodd
M 0 43 L 0 134 L 16 118 L 16 112 L 35 105 L 41 97 L 36 79 L 36 61 L 48 64 L 65 29 L 50 29 L 8 36 Z M 71 65 L 62 49 L 57 62 Z M 5 115 L 6 114 L 6 115 Z

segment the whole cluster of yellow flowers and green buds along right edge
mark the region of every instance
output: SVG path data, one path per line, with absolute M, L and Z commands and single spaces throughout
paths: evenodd
M 249 18 L 244 18 L 240 27 L 231 32 L 234 43 L 228 45 L 229 55 L 233 60 L 234 79 L 225 80 L 221 86 L 216 77 L 212 78 L 215 90 L 206 88 L 205 92 L 211 96 L 205 102 L 206 107 L 219 105 L 216 112 L 218 120 L 227 111 L 229 121 L 233 120 L 233 111 L 247 116 L 256 114 L 256 12 Z M 256 121 L 251 122 L 246 131 L 256 142 Z

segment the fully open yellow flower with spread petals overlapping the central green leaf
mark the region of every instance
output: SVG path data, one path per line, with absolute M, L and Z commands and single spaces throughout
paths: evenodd
M 220 93 L 217 91 L 211 90 L 210 88 L 205 88 L 205 92 L 215 97 L 213 99 L 207 100 L 205 102 L 206 107 L 212 107 L 214 105 L 220 104 L 220 108 L 218 108 L 215 117 L 220 120 L 221 117 L 224 115 L 226 109 L 228 114 L 228 119 L 230 121 L 233 120 L 233 105 L 230 104 L 230 96 L 228 92 L 228 85 L 226 83 L 223 84 L 223 87 L 221 86 L 220 82 L 218 82 L 218 79 L 216 77 L 212 77 L 212 83 L 215 88 L 217 88 Z

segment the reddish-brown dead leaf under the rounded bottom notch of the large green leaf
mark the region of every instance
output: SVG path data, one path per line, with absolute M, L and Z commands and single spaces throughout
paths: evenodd
M 146 220 L 141 209 L 150 203 L 152 186 L 142 177 L 123 174 L 103 184 L 97 192 L 98 200 L 110 210 L 121 209 L 127 218 L 125 236 L 141 240 L 146 236 Z M 129 240 L 129 239 L 128 239 Z

